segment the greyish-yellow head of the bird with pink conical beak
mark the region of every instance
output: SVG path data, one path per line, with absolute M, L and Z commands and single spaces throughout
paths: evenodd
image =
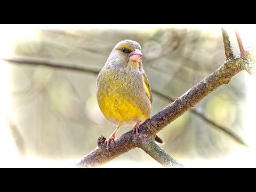
M 141 46 L 132 40 L 124 40 L 116 44 L 109 55 L 108 61 L 111 65 L 131 66 L 138 63 L 142 57 Z

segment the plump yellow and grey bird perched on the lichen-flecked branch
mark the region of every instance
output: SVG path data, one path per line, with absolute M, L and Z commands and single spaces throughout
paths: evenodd
M 100 110 L 117 126 L 105 140 L 107 150 L 121 126 L 134 126 L 133 133 L 138 136 L 140 125 L 150 117 L 153 95 L 142 67 L 142 55 L 138 42 L 125 39 L 116 44 L 97 77 Z M 155 141 L 164 143 L 157 135 Z

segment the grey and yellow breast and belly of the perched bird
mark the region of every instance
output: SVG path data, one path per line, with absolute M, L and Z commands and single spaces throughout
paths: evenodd
M 151 113 L 142 76 L 136 70 L 103 68 L 97 78 L 97 100 L 103 115 L 116 125 L 135 125 Z

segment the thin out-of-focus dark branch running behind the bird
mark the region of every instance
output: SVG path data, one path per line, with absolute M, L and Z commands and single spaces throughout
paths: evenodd
M 94 75 L 99 74 L 99 70 L 97 69 L 88 69 L 84 67 L 77 67 L 75 65 L 72 65 L 70 63 L 63 63 L 63 62 L 55 62 L 55 61 L 49 61 L 49 60 L 42 60 L 42 59 L 31 59 L 31 58 L 4 58 L 3 60 L 12 62 L 12 63 L 19 63 L 20 65 L 32 65 L 32 66 L 38 66 L 38 65 L 44 65 L 51 68 L 57 68 L 57 69 L 66 69 L 66 70 L 73 70 L 73 71 L 79 71 L 79 72 L 85 72 L 85 73 L 92 73 Z M 164 99 L 167 99 L 168 101 L 173 102 L 175 99 L 171 98 L 169 96 L 166 96 L 162 93 L 159 93 L 158 91 L 153 90 L 153 93 L 158 95 L 159 97 L 162 97 Z M 244 146 L 247 146 L 246 143 L 243 141 L 239 135 L 237 135 L 235 132 L 231 131 L 230 129 L 223 127 L 221 125 L 218 125 L 215 123 L 209 115 L 206 113 L 203 113 L 202 110 L 198 110 L 197 108 L 193 108 L 190 110 L 192 113 L 197 115 L 198 117 L 201 117 L 204 121 L 212 124 L 213 126 L 219 128 L 221 131 L 229 134 L 231 137 L 233 137 L 236 141 L 241 143 Z

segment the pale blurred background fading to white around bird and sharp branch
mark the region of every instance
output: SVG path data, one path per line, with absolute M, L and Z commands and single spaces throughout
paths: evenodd
M 226 27 L 239 53 L 234 26 Z M 245 47 L 256 44 L 256 25 L 237 28 Z M 225 61 L 220 25 L 0 25 L 0 31 L 0 167 L 69 167 L 101 134 L 109 137 L 115 126 L 98 107 L 96 78 L 123 39 L 142 47 L 152 116 Z M 237 74 L 193 108 L 214 123 L 189 110 L 158 133 L 161 147 L 187 167 L 256 167 L 255 85 L 246 71 Z M 122 127 L 117 137 L 131 129 Z M 103 167 L 162 165 L 136 148 Z

